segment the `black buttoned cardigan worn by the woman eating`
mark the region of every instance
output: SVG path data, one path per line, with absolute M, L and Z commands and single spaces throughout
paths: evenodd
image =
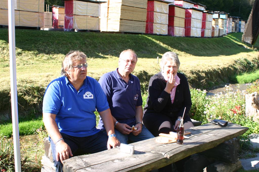
M 180 84 L 175 91 L 175 99 L 172 104 L 170 94 L 166 88 L 166 80 L 161 72 L 152 76 L 149 80 L 147 104 L 144 107 L 143 118 L 154 113 L 163 113 L 171 118 L 183 116 L 184 107 L 186 107 L 184 118 L 191 109 L 191 93 L 187 78 L 182 73 L 177 73 L 180 78 Z

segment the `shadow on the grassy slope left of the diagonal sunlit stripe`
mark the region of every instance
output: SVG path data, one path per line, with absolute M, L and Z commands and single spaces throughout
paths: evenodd
M 125 49 L 133 49 L 138 56 L 154 58 L 169 49 L 138 34 L 95 32 L 63 32 L 16 29 L 16 47 L 37 54 L 67 54 L 80 50 L 89 58 L 119 56 Z M 8 42 L 8 30 L 0 29 L 0 39 Z

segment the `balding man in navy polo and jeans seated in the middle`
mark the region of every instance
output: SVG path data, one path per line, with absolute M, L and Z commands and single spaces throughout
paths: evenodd
M 116 137 L 124 144 L 128 140 L 136 142 L 154 137 L 142 125 L 140 82 L 138 77 L 131 74 L 137 60 L 133 50 L 124 50 L 119 57 L 119 67 L 99 79 L 111 109 Z M 136 130 L 132 129 L 133 125 Z M 105 129 L 102 118 L 97 128 Z

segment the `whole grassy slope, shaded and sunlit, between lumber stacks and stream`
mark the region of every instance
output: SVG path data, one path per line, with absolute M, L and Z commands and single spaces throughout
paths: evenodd
M 134 74 L 140 78 L 144 88 L 150 76 L 160 69 L 156 57 L 161 58 L 163 53 L 173 51 L 179 55 L 180 70 L 187 75 L 190 84 L 206 88 L 227 81 L 228 75 L 236 73 L 235 60 L 257 58 L 258 52 L 251 49 L 252 46 L 241 43 L 241 35 L 232 33 L 220 38 L 185 38 L 16 30 L 19 113 L 26 113 L 28 119 L 40 113 L 44 90 L 51 80 L 60 75 L 61 62 L 70 50 L 87 54 L 88 76 L 96 79 L 117 67 L 121 51 L 128 48 L 135 50 L 139 60 Z M 0 123 L 1 118 L 4 120 L 5 116 L 10 116 L 8 46 L 8 30 L 0 28 L 0 97 L 3 97 L 0 100 Z M 258 41 L 253 48 L 259 48 Z

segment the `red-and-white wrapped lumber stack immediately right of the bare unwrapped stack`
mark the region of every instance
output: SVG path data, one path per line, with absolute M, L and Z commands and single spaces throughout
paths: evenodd
M 168 3 L 160 1 L 148 1 L 146 19 L 146 33 L 167 35 Z

